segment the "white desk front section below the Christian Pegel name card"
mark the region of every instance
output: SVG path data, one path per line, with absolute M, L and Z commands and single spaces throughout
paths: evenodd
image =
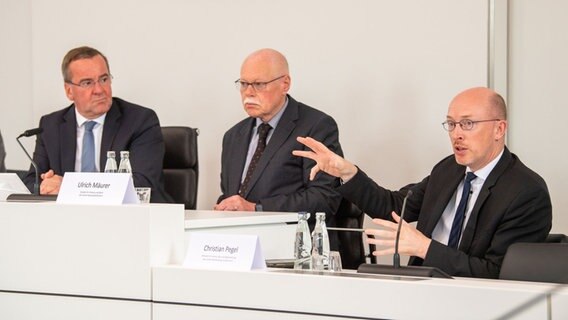
M 469 278 L 156 267 L 154 320 L 568 319 L 568 289 Z

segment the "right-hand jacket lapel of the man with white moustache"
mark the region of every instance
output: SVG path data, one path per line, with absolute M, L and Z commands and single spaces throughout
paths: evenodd
M 264 169 L 266 169 L 266 166 L 268 165 L 268 163 L 270 163 L 270 160 L 274 157 L 276 152 L 280 150 L 280 146 L 282 146 L 282 144 L 286 142 L 286 140 L 288 140 L 288 137 L 290 137 L 290 134 L 292 134 L 294 128 L 296 128 L 297 119 L 298 102 L 292 99 L 292 97 L 288 96 L 288 106 L 286 107 L 286 110 L 284 110 L 282 118 L 280 118 L 280 121 L 278 122 L 278 126 L 276 127 L 276 129 L 274 129 L 274 133 L 272 134 L 270 141 L 266 145 L 266 149 L 264 149 L 264 153 L 262 154 L 260 161 L 256 165 L 256 169 L 252 174 L 248 190 L 245 194 L 245 198 L 254 188 L 254 185 L 256 184 L 258 179 L 262 176 L 262 172 L 264 171 Z

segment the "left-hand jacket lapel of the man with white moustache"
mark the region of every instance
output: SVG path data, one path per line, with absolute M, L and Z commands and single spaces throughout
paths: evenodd
M 248 147 L 251 139 L 252 128 L 255 123 L 254 118 L 249 118 L 241 126 L 237 132 L 237 136 L 232 141 L 235 143 L 229 146 L 232 152 L 229 152 L 231 159 L 228 159 L 229 169 L 229 190 L 228 194 L 238 194 L 239 188 L 241 186 L 241 178 L 243 175 L 243 170 L 245 167 L 245 162 L 247 159 Z

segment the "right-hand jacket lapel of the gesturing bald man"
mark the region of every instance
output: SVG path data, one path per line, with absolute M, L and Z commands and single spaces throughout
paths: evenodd
M 489 195 L 491 195 L 491 188 L 493 188 L 495 183 L 497 183 L 499 177 L 501 177 L 501 175 L 505 172 L 505 170 L 511 163 L 511 160 L 512 160 L 511 153 L 509 152 L 509 149 L 505 147 L 505 150 L 503 151 L 503 156 L 501 157 L 499 162 L 497 162 L 497 165 L 495 166 L 495 168 L 493 168 L 493 170 L 487 177 L 487 180 L 483 183 L 481 191 L 479 191 L 479 196 L 475 201 L 475 205 L 473 206 L 473 210 L 471 211 L 471 216 L 469 217 L 467 225 L 463 231 L 462 239 L 460 242 L 460 248 L 459 248 L 461 251 L 469 252 L 471 243 L 473 241 L 473 236 L 477 228 L 479 211 L 481 210 L 481 207 L 483 207 L 483 204 L 485 203 Z

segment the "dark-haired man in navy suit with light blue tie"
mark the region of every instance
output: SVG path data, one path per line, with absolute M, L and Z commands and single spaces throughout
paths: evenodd
M 65 94 L 73 104 L 40 120 L 43 133 L 34 152 L 42 179 L 40 193 L 57 194 L 65 172 L 104 171 L 107 151 L 128 150 L 134 185 L 151 187 L 152 202 L 172 202 L 163 186 L 165 147 L 156 113 L 112 97 L 108 60 L 96 49 L 72 49 L 61 68 Z M 86 152 L 87 131 L 92 152 Z M 24 179 L 30 190 L 34 180 L 31 167 Z

